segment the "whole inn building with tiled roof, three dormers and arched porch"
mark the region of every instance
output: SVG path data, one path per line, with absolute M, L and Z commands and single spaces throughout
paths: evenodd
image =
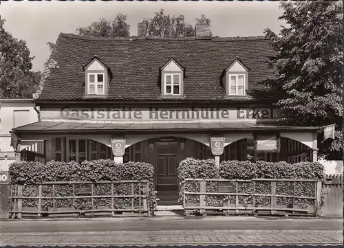
M 39 122 L 12 131 L 18 150 L 45 142 L 46 161 L 147 162 L 158 194 L 177 195 L 187 157 L 316 161 L 319 137 L 333 137 L 333 126 L 284 124 L 264 86 L 274 78 L 267 38 L 211 38 L 209 25 L 195 38 L 151 38 L 139 27 L 130 38 L 60 34 L 35 94 Z

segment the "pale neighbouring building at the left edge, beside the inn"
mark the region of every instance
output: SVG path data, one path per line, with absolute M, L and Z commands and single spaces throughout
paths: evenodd
M 22 146 L 22 152 L 17 155 L 11 146 L 12 128 L 38 122 L 38 113 L 39 109 L 34 109 L 32 98 L 0 99 L 0 171 L 7 171 L 8 166 L 16 160 L 33 159 L 34 155 L 39 161 L 43 161 L 43 142 Z

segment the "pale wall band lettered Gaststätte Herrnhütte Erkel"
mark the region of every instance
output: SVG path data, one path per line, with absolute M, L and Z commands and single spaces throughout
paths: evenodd
M 275 111 L 274 111 L 275 113 Z M 275 115 L 275 114 L 274 114 Z M 58 109 L 41 108 L 41 119 L 54 120 L 118 120 L 118 121 L 149 121 L 149 120 L 237 120 L 237 119 L 271 119 L 270 108 L 175 108 L 164 107 L 132 108 L 73 108 L 63 106 Z

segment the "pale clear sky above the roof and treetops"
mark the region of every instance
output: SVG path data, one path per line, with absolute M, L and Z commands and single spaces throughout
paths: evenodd
M 42 70 L 50 55 L 47 43 L 60 33 L 75 34 L 100 17 L 112 20 L 118 12 L 127 14 L 130 34 L 136 36 L 138 23 L 164 9 L 166 14 L 184 15 L 186 23 L 205 14 L 211 19 L 213 36 L 261 36 L 264 29 L 279 32 L 283 21 L 277 1 L 3 1 L 1 19 L 5 30 L 26 41 L 32 69 Z

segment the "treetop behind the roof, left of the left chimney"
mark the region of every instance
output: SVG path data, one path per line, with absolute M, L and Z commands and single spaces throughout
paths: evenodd
M 128 37 L 129 28 L 127 15 L 118 13 L 112 21 L 107 21 L 102 17 L 87 27 L 78 27 L 76 34 L 95 37 Z

